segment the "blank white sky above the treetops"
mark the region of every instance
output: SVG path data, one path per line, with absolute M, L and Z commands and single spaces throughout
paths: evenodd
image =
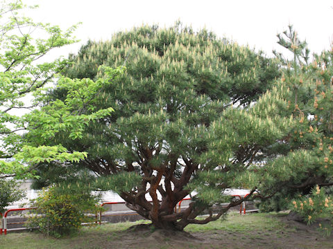
M 110 39 L 119 30 L 141 24 L 171 26 L 177 19 L 195 30 L 204 26 L 219 37 L 232 38 L 272 55 L 279 48 L 277 33 L 289 24 L 311 52 L 330 48 L 333 35 L 333 1 L 328 0 L 26 0 L 39 4 L 33 11 L 35 21 L 50 22 L 68 28 L 83 22 L 76 32 L 80 44 L 87 39 Z M 80 44 L 62 48 L 57 53 L 76 53 Z

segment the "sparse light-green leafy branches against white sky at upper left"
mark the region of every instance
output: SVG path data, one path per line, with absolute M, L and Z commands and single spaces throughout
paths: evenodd
M 34 23 L 22 15 L 25 8 L 20 0 L 2 1 L 0 7 L 0 158 L 12 158 L 22 149 L 22 136 L 17 131 L 26 129 L 27 120 L 15 113 L 34 105 L 24 104 L 22 98 L 28 98 L 67 65 L 66 59 L 42 64 L 38 59 L 53 48 L 76 42 L 71 38 L 76 26 L 63 32 L 58 26 Z M 33 30 L 40 30 L 46 38 L 34 37 Z M 20 174 L 25 168 L 17 162 L 0 163 L 1 175 Z

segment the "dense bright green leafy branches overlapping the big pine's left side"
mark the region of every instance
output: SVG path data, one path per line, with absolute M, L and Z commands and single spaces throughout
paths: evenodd
M 1 172 L 8 174 L 15 172 L 15 176 L 32 176 L 32 172 L 26 172 L 26 167 L 23 163 L 35 165 L 41 162 L 50 162 L 51 160 L 59 160 L 64 162 L 69 160 L 71 162 L 78 161 L 87 156 L 86 152 L 67 151 L 62 145 L 47 146 L 49 139 L 56 136 L 56 133 L 65 131 L 69 133 L 69 138 L 76 139 L 82 138 L 83 127 L 96 119 L 103 118 L 110 115 L 112 107 L 106 109 L 98 109 L 94 111 L 94 95 L 98 89 L 121 74 L 125 68 L 105 68 L 105 77 L 96 80 L 71 80 L 69 78 L 61 78 L 58 89 L 67 91 L 67 98 L 65 101 L 54 100 L 47 102 L 47 104 L 40 108 L 31 111 L 22 117 L 26 122 L 25 136 L 19 137 L 19 145 L 21 151 L 12 155 L 15 160 L 6 162 L 0 161 Z M 82 91 L 85 94 L 78 97 L 77 93 Z M 43 93 L 35 91 L 37 99 L 44 98 Z M 83 112 L 87 114 L 83 114 Z M 8 137 L 9 138 L 9 137 Z M 11 140 L 12 142 L 12 140 Z

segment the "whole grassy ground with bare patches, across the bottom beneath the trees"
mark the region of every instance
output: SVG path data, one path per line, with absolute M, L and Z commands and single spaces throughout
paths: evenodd
M 52 239 L 35 232 L 0 237 L 1 249 L 12 248 L 333 248 L 333 237 L 314 227 L 287 221 L 286 214 L 230 214 L 225 221 L 188 225 L 186 233 L 127 230 L 135 223 L 83 228 L 71 237 Z

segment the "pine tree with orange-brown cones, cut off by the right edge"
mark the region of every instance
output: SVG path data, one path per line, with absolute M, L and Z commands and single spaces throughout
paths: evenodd
M 291 208 L 311 223 L 333 212 L 333 50 L 314 55 L 310 62 L 306 42 L 292 26 L 278 37 L 293 55 L 285 59 L 275 53 L 283 71 L 278 95 L 288 103 L 278 115 L 291 117 L 291 125 L 282 139 L 266 148 L 271 160 L 258 169 L 264 181 L 257 187 L 273 196 L 262 201 L 263 210 Z

